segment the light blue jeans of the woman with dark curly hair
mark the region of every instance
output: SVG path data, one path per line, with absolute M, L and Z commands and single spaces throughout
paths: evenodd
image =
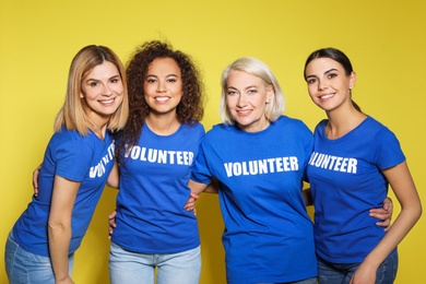
M 131 252 L 111 242 L 109 279 L 111 284 L 198 284 L 201 272 L 200 247 L 169 255 Z

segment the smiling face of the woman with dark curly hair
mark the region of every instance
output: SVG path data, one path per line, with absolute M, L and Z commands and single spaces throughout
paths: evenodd
M 180 68 L 171 58 L 158 58 L 147 68 L 143 84 L 145 102 L 153 114 L 176 114 L 182 98 Z

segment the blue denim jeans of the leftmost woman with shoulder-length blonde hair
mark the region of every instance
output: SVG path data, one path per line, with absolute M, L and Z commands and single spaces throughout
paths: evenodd
M 68 261 L 71 275 L 74 255 L 70 255 Z M 12 233 L 5 242 L 4 263 L 10 284 L 55 284 L 50 258 L 22 249 L 13 239 Z

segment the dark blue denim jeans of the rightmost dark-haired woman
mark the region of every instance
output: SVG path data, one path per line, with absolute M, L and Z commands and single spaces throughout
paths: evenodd
M 330 263 L 318 257 L 319 284 L 346 284 L 360 263 Z M 397 277 L 398 253 L 389 256 L 376 272 L 376 284 L 390 284 Z

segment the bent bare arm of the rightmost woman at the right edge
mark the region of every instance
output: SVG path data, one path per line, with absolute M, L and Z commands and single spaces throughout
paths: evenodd
M 386 169 L 383 174 L 401 203 L 401 213 L 386 236 L 355 271 L 351 280 L 354 284 L 375 282 L 380 263 L 401 242 L 422 215 L 421 200 L 406 163 Z

